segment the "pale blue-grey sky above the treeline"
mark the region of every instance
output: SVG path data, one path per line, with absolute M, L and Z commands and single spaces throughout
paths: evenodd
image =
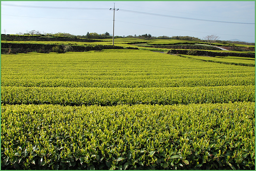
M 112 35 L 114 5 L 115 36 L 214 34 L 255 42 L 255 1 L 1 1 L 1 34 Z

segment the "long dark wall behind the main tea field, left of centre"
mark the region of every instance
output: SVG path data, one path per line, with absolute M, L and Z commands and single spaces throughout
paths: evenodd
M 53 52 L 52 48 L 58 46 L 62 51 L 67 45 L 56 45 L 56 44 L 27 44 L 27 43 L 1 43 L 1 53 L 27 53 L 27 52 L 41 52 L 49 53 Z M 122 46 L 112 46 L 112 45 L 85 45 L 85 46 L 71 46 L 74 52 L 83 51 L 101 51 L 103 49 L 135 49 L 133 47 L 122 47 Z

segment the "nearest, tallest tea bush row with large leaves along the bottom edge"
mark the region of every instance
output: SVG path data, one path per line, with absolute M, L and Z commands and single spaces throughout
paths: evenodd
M 1 169 L 253 169 L 254 107 L 1 106 Z

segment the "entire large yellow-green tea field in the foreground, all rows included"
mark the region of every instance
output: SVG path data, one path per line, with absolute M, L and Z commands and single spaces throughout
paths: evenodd
M 1 169 L 255 169 L 255 65 L 1 55 Z

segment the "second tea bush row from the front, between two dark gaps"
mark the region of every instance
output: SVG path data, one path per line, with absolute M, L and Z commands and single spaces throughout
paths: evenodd
M 191 104 L 255 101 L 255 86 L 91 88 L 1 87 L 2 104 Z

